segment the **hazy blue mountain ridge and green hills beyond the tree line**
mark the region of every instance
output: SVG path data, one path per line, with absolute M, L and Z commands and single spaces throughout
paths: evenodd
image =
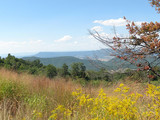
M 62 67 L 64 63 L 70 66 L 72 63 L 84 63 L 88 70 L 99 70 L 106 68 L 108 70 L 118 69 L 136 69 L 137 67 L 110 56 L 113 50 L 101 49 L 95 51 L 76 51 L 76 52 L 40 52 L 33 57 L 23 57 L 24 60 L 33 61 L 39 59 L 44 65 L 53 64 L 56 67 Z M 152 61 L 152 58 L 148 60 Z

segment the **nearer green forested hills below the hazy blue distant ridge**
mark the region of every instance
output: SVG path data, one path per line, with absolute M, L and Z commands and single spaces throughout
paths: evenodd
M 123 60 L 113 58 L 109 61 L 99 61 L 90 59 L 79 59 L 71 56 L 54 57 L 54 58 L 39 58 L 39 57 L 23 57 L 24 60 L 33 61 L 39 59 L 44 65 L 52 64 L 56 67 L 62 67 L 64 63 L 70 66 L 72 63 L 81 62 L 84 63 L 87 70 L 99 70 L 100 68 L 106 68 L 107 70 L 118 70 L 118 69 L 135 69 L 136 66 L 131 65 Z

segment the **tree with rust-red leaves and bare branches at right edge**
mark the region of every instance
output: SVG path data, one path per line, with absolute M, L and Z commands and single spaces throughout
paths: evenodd
M 151 5 L 160 13 L 160 0 L 149 0 Z M 124 18 L 126 20 L 126 18 Z M 141 26 L 134 22 L 126 20 L 126 29 L 129 31 L 129 37 L 113 38 L 101 36 L 97 31 L 90 34 L 104 45 L 109 46 L 115 51 L 114 56 L 137 66 L 138 70 L 147 71 L 149 83 L 149 74 L 152 72 L 155 76 L 160 74 L 154 69 L 160 64 L 160 23 L 144 22 Z

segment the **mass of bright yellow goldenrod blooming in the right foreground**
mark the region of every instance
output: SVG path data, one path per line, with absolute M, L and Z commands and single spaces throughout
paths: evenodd
M 146 94 L 141 95 L 131 93 L 129 87 L 120 84 L 114 92 L 115 96 L 107 96 L 101 89 L 96 97 L 91 97 L 79 89 L 72 93 L 74 105 L 69 109 L 59 105 L 49 119 L 160 119 L 160 87 L 148 85 Z

